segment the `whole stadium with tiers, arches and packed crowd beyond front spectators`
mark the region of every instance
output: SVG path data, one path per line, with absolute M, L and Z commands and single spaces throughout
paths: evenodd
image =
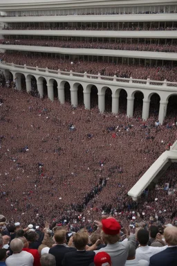
M 102 215 L 122 236 L 176 228 L 176 13 L 173 0 L 1 1 L 2 236 L 20 223 L 91 237 Z

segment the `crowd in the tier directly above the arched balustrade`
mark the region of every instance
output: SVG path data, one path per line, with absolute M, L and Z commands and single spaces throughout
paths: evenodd
M 137 64 L 115 64 L 107 62 L 93 62 L 93 61 L 72 61 L 57 57 L 42 57 L 40 55 L 31 55 L 19 53 L 1 53 L 1 60 L 3 62 L 14 63 L 19 65 L 41 67 L 53 70 L 60 69 L 61 71 L 73 71 L 77 73 L 100 73 L 102 76 L 118 76 L 120 78 L 134 78 L 147 80 L 167 80 L 169 82 L 176 82 L 176 67 L 165 64 L 162 67 L 150 67 Z

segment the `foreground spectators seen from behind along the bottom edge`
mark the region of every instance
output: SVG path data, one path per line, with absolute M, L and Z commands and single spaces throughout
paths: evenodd
M 177 227 L 136 225 L 129 235 L 115 218 L 95 221 L 97 231 L 71 232 L 62 224 L 42 231 L 33 224 L 9 226 L 0 215 L 2 266 L 176 266 Z M 54 224 L 53 224 L 54 226 Z M 149 231 L 148 231 L 149 230 Z M 124 239 L 124 240 L 122 240 Z

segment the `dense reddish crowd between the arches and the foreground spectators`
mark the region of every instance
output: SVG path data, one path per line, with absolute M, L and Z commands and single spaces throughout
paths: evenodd
M 176 140 L 175 112 L 167 125 L 157 128 L 153 116 L 144 123 L 128 119 L 124 109 L 118 116 L 102 115 L 97 109 L 73 109 L 67 103 L 1 89 L 3 213 L 11 222 L 60 219 L 73 228 L 84 223 L 90 230 L 101 213 L 122 213 L 128 225 L 132 211 L 140 220 L 162 211 L 159 217 L 165 216 L 164 222 L 175 222 L 175 164 L 164 177 L 169 180 L 168 190 L 149 192 L 138 206 L 127 197 L 133 184 Z M 155 202 L 157 193 L 162 197 Z M 169 197 L 167 206 L 163 197 Z

